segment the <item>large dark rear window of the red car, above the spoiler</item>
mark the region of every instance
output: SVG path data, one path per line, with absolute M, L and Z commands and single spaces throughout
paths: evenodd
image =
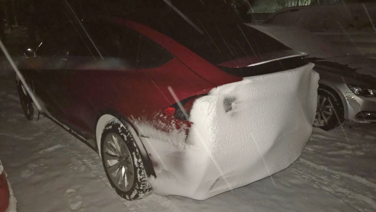
M 221 1 L 192 0 L 190 4 L 194 7 L 181 2 L 185 1 L 171 1 L 182 15 L 161 1 L 149 2 L 142 13 L 129 14 L 126 18 L 150 26 L 213 64 L 289 49 L 244 25 L 235 11 Z

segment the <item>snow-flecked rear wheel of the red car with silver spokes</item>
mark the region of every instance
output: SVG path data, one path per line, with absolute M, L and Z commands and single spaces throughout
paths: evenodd
M 147 181 L 147 175 L 140 151 L 133 136 L 136 135 L 132 135 L 132 133 L 119 120 L 113 119 L 109 121 L 103 129 L 100 143 L 100 155 L 107 178 L 117 194 L 127 200 L 138 200 L 144 198 L 152 191 L 152 187 Z M 114 145 L 111 146 L 111 142 Z M 119 147 L 118 150 L 122 149 L 121 151 L 128 152 L 116 152 L 117 147 Z M 111 160 L 113 158 L 117 159 Z M 129 168 L 130 163 L 132 163 L 133 170 L 132 168 Z M 117 169 L 115 169 L 117 166 L 116 164 L 118 164 Z M 119 180 L 117 180 L 116 177 L 119 173 L 120 177 Z M 133 173 L 133 175 L 131 173 Z M 132 177 L 133 179 L 131 180 Z M 124 181 L 120 181 L 121 179 Z M 127 183 L 122 184 L 122 182 L 125 181 L 127 181 Z

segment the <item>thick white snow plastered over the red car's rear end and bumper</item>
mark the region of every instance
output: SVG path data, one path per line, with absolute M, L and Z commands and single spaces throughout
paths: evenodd
M 288 167 L 312 132 L 318 88 L 313 66 L 212 89 L 194 102 L 188 135 L 184 128 L 162 133 L 134 123 L 153 161 L 153 190 L 204 200 Z

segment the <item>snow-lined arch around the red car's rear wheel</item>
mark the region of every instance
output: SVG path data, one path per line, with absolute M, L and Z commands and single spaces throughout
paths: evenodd
M 101 143 L 101 140 L 102 140 L 103 129 L 105 128 L 106 124 L 114 118 L 119 120 L 120 123 L 123 124 L 125 127 L 127 127 L 128 130 L 132 133 L 133 138 L 136 142 L 136 145 L 137 145 L 139 151 L 141 152 L 141 158 L 143 160 L 147 176 L 150 177 L 151 175 L 153 175 L 154 177 L 156 177 L 155 172 L 154 172 L 154 168 L 152 166 L 152 162 L 149 158 L 149 154 L 147 153 L 144 144 L 142 143 L 141 139 L 139 138 L 137 131 L 135 130 L 135 128 L 132 126 L 132 124 L 126 118 L 124 118 L 122 115 L 118 114 L 117 112 L 106 111 L 98 118 L 95 132 L 96 132 L 96 144 L 97 144 L 99 157 L 101 157 L 100 143 Z

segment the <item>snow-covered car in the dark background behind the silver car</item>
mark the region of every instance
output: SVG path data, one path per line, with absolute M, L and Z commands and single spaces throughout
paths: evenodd
M 331 41 L 345 54 L 376 53 L 375 22 L 374 1 L 287 7 L 264 21 L 270 25 L 305 28 Z

